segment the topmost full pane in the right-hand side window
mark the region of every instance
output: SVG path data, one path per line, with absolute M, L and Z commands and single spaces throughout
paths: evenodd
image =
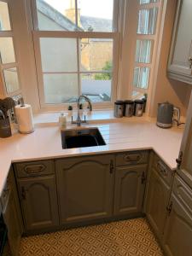
M 154 35 L 158 8 L 140 9 L 137 34 Z

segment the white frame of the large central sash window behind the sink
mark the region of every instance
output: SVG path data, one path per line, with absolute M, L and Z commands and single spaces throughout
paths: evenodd
M 77 0 L 76 6 L 77 6 Z M 113 108 L 113 102 L 117 97 L 117 84 L 118 84 L 118 67 L 119 67 L 119 7 L 122 0 L 113 0 L 113 32 L 68 32 L 68 31 L 38 31 L 38 17 L 36 1 L 32 1 L 32 16 L 33 16 L 33 43 L 34 51 L 36 56 L 36 66 L 38 75 L 38 91 L 39 91 L 39 101 L 41 110 L 57 110 L 57 109 L 67 109 L 68 103 L 62 104 L 48 104 L 44 101 L 44 81 L 43 81 L 43 70 L 41 65 L 41 54 L 40 54 L 40 38 L 77 38 L 77 55 L 79 55 L 79 39 L 81 38 L 110 38 L 113 39 L 113 79 L 111 86 L 111 102 L 94 102 L 94 108 Z M 79 56 L 78 56 L 79 59 Z M 79 65 L 78 65 L 79 66 Z M 54 72 L 53 72 L 54 73 Z M 67 72 L 66 72 L 67 73 Z M 82 72 L 74 72 L 80 74 Z M 86 73 L 105 73 L 99 72 L 86 72 Z M 80 82 L 79 82 L 80 86 Z M 79 91 L 80 94 L 80 91 Z M 71 105 L 71 104 L 70 104 Z M 76 103 L 72 104 L 76 107 Z

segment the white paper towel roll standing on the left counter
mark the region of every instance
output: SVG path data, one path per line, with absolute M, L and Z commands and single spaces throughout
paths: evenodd
M 31 105 L 25 104 L 24 106 L 15 106 L 15 114 L 20 133 L 31 133 L 34 131 Z

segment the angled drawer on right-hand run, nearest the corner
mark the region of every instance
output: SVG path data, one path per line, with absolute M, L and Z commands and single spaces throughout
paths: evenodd
M 174 177 L 174 171 L 170 170 L 169 167 L 167 167 L 166 164 L 160 160 L 160 157 L 156 154 L 154 154 L 153 167 L 160 174 L 160 177 L 162 177 L 165 182 L 171 186 Z

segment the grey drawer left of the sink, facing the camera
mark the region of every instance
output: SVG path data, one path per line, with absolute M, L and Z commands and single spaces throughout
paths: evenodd
M 17 177 L 37 177 L 55 172 L 53 160 L 15 164 Z

